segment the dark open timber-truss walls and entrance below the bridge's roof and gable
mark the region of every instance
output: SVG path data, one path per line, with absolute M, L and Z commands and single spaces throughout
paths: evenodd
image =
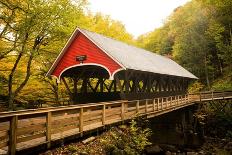
M 97 65 L 76 66 L 61 75 L 75 104 L 181 95 L 189 82 L 183 77 L 135 70 L 121 70 L 110 77 L 107 69 Z

